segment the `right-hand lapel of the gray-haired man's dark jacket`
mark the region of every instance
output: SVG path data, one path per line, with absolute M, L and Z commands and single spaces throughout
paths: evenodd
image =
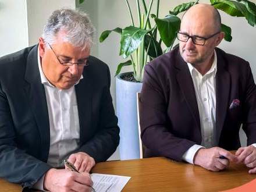
M 80 80 L 79 84 L 77 84 L 75 88 L 77 108 L 79 111 L 80 142 L 83 142 L 88 140 L 88 137 L 90 137 L 89 131 L 92 126 L 92 87 L 90 78 L 88 78 L 87 69 L 84 69 L 83 79 Z

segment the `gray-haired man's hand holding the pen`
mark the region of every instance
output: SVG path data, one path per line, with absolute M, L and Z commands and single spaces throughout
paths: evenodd
M 49 169 L 44 177 L 44 189 L 49 191 L 91 191 L 93 182 L 89 173 L 66 169 Z

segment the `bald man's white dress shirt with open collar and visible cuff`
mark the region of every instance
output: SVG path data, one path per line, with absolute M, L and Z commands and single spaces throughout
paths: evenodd
M 190 74 L 194 84 L 195 96 L 197 98 L 198 111 L 200 115 L 202 142 L 201 145 L 193 145 L 183 154 L 183 160 L 193 163 L 194 155 L 200 148 L 211 148 L 217 145 L 215 137 L 215 115 L 216 115 L 216 72 L 217 56 L 214 51 L 214 61 L 211 69 L 203 76 L 191 63 Z M 203 147 L 204 146 L 204 147 Z

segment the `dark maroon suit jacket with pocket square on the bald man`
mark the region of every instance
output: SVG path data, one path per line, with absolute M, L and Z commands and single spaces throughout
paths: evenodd
M 226 150 L 256 143 L 256 87 L 249 63 L 219 48 L 216 72 L 216 140 Z M 232 105 L 239 99 L 239 105 Z M 145 66 L 140 95 L 141 139 L 145 156 L 182 161 L 184 152 L 201 144 L 200 116 L 193 80 L 179 48 Z

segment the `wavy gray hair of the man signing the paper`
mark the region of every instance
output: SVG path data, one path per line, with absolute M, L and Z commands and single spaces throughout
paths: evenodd
M 93 45 L 94 31 L 94 26 L 86 13 L 80 10 L 59 9 L 47 20 L 42 38 L 44 42 L 54 44 L 58 33 L 63 32 L 63 41 L 85 49 Z

